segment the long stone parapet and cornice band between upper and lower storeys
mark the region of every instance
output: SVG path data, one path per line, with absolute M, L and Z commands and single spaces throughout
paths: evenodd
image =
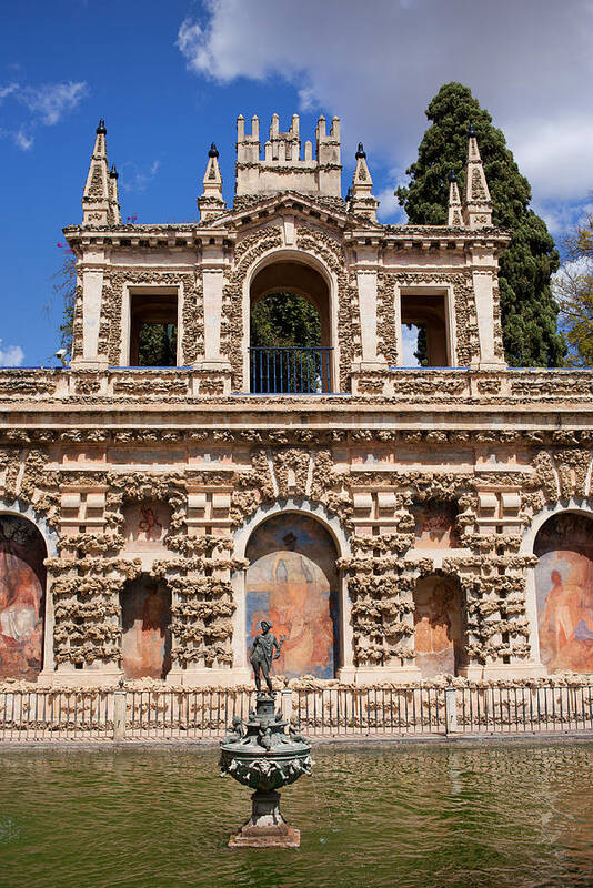
M 586 430 L 593 420 L 593 371 L 373 371 L 362 374 L 356 395 L 194 394 L 195 380 L 203 377 L 204 371 L 192 367 L 4 369 L 0 424 L 551 431 Z

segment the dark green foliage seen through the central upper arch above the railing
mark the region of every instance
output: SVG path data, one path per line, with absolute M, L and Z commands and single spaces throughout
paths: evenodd
M 272 293 L 251 310 L 252 347 L 321 345 L 321 321 L 316 309 L 294 293 Z

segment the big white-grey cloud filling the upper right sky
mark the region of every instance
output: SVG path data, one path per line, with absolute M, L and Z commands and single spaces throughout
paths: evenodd
M 576 200 L 593 189 L 593 3 L 569 6 L 300 0 L 296 12 L 278 0 L 205 0 L 177 46 L 191 71 L 214 82 L 283 79 L 302 110 L 342 118 L 346 155 L 362 140 L 371 172 L 373 158 L 409 165 L 431 98 L 461 81 L 506 133 L 535 199 Z

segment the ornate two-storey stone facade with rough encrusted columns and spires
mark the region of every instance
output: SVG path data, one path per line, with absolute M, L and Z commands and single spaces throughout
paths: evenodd
M 463 205 L 452 189 L 455 224 L 390 226 L 375 221 L 362 147 L 352 200 L 336 194 L 336 121 L 330 137 L 318 128 L 318 160 L 311 147 L 299 160 L 298 120 L 288 133 L 278 121 L 272 130 L 260 161 L 259 130 L 245 137 L 239 121 L 233 209 L 211 149 L 202 221 L 182 225 L 120 224 L 98 130 L 84 223 L 66 229 L 78 259 L 71 365 L 0 371 L 0 529 L 3 514 L 26 515 L 48 543 L 34 615 L 44 633 L 39 680 L 117 683 L 123 632 L 130 644 L 152 645 L 147 656 L 158 653 L 163 612 L 151 584 L 171 603 L 162 680 L 248 680 L 245 551 L 270 515 L 285 515 L 285 551 L 301 553 L 304 572 L 299 586 L 280 553 L 274 575 L 294 596 L 294 614 L 314 622 L 305 544 L 291 534 L 296 512 L 323 524 L 338 552 L 332 644 L 342 680 L 420 677 L 421 581 L 456 596 L 459 674 L 544 675 L 542 627 L 555 645 L 550 663 L 564 662 L 559 645 L 575 633 L 586 664 L 593 581 L 562 576 L 552 595 L 536 586 L 534 567 L 546 518 L 593 518 L 593 373 L 504 366 L 496 268 L 507 236 L 490 224 L 475 140 Z M 321 391 L 253 391 L 251 301 L 257 286 L 278 291 L 283 274 L 284 289 L 316 287 L 330 354 Z M 134 299 L 151 295 L 177 305 L 178 366 L 128 366 Z M 404 307 L 405 317 L 436 319 L 449 366 L 402 366 Z M 550 564 L 554 552 L 547 534 Z M 8 575 L 8 548 L 0 557 Z M 122 601 L 139 581 L 144 609 L 124 627 Z M 24 593 L 11 595 L 0 603 L 9 635 L 31 609 Z M 449 628 L 424 607 L 423 656 L 436 656 Z M 278 619 L 287 645 L 314 658 L 302 622 L 282 607 Z

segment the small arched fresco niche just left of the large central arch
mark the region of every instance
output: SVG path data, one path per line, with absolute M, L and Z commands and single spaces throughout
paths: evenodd
M 171 668 L 171 595 L 149 577 L 121 596 L 122 668 L 127 678 L 164 678 Z

